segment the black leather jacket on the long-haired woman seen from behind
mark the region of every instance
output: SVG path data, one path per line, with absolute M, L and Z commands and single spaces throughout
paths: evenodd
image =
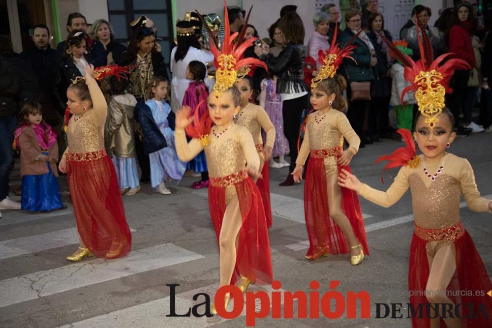
M 277 93 L 293 93 L 307 91 L 304 83 L 304 62 L 306 50 L 304 45 L 289 42 L 282 52 L 275 58 L 272 55 L 262 55 L 270 74 L 275 74 Z

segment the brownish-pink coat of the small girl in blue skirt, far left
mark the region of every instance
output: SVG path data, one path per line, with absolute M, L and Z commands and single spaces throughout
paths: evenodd
M 43 151 L 48 151 L 49 156 L 55 158 L 58 162 L 58 143 L 55 142 L 48 150 L 42 150 L 31 126 L 22 128 L 22 132 L 19 135 L 19 146 L 21 149 L 21 178 L 23 176 L 38 176 L 49 172 L 46 162 L 36 160 Z M 57 164 L 50 163 L 50 166 L 53 175 L 58 177 Z

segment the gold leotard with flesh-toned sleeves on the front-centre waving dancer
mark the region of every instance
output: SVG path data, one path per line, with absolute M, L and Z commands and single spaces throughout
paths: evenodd
M 212 127 L 212 131 L 216 129 L 216 126 Z M 204 149 L 197 139 L 187 143 L 184 129 L 176 128 L 174 138 L 178 157 L 184 162 L 190 161 Z M 253 138 L 245 127 L 232 123 L 218 138 L 211 132 L 210 139 L 210 145 L 205 147 L 210 178 L 227 177 L 240 172 L 245 168 L 246 162 L 248 167 L 258 170 L 260 158 Z M 234 186 L 227 186 L 226 204 L 234 195 L 236 195 Z

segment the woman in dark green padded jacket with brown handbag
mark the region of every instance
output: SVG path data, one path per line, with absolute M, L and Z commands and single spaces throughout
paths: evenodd
M 340 47 L 348 43 L 357 46 L 352 53 L 352 58 L 357 63 L 352 60 L 343 60 L 349 82 L 347 85 L 347 98 L 349 99 L 347 118 L 361 139 L 359 147 L 364 148 L 372 144 L 369 138 L 363 137 L 362 130 L 370 104 L 370 84 L 377 74 L 374 69 L 377 58 L 368 35 L 362 31 L 360 11 L 347 10 L 345 21 L 347 28 L 340 34 Z

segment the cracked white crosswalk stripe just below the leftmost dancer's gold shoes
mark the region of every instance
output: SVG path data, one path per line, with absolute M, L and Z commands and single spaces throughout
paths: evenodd
M 133 250 L 118 260 L 82 261 L 5 279 L 0 281 L 0 307 L 202 258 L 168 243 Z

